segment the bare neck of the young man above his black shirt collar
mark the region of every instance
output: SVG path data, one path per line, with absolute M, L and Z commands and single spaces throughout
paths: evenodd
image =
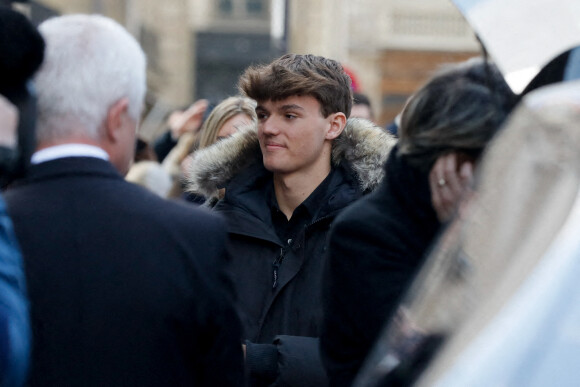
M 287 219 L 294 210 L 324 181 L 330 173 L 330 162 L 327 168 L 318 168 L 306 173 L 290 175 L 274 173 L 274 192 L 280 211 Z

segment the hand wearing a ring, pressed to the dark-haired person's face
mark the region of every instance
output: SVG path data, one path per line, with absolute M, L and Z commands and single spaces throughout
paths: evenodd
M 473 163 L 458 163 L 455 153 L 440 156 L 429 173 L 431 203 L 441 223 L 453 218 L 461 199 L 473 187 Z

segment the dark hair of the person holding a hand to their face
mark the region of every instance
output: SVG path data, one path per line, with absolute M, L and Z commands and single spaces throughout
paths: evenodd
M 477 159 L 515 103 L 493 63 L 472 58 L 447 65 L 405 106 L 399 154 L 421 170 L 451 152 Z

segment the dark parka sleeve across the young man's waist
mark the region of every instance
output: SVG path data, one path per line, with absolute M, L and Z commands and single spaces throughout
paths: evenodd
M 273 344 L 246 345 L 246 368 L 253 386 L 328 385 L 318 338 L 281 335 Z

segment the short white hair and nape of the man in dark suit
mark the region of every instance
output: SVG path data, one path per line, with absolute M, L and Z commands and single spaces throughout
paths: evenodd
M 39 26 L 45 59 L 35 81 L 39 143 L 84 136 L 102 140 L 109 110 L 125 99 L 138 122 L 146 89 L 146 60 L 117 22 L 98 15 L 67 15 Z

